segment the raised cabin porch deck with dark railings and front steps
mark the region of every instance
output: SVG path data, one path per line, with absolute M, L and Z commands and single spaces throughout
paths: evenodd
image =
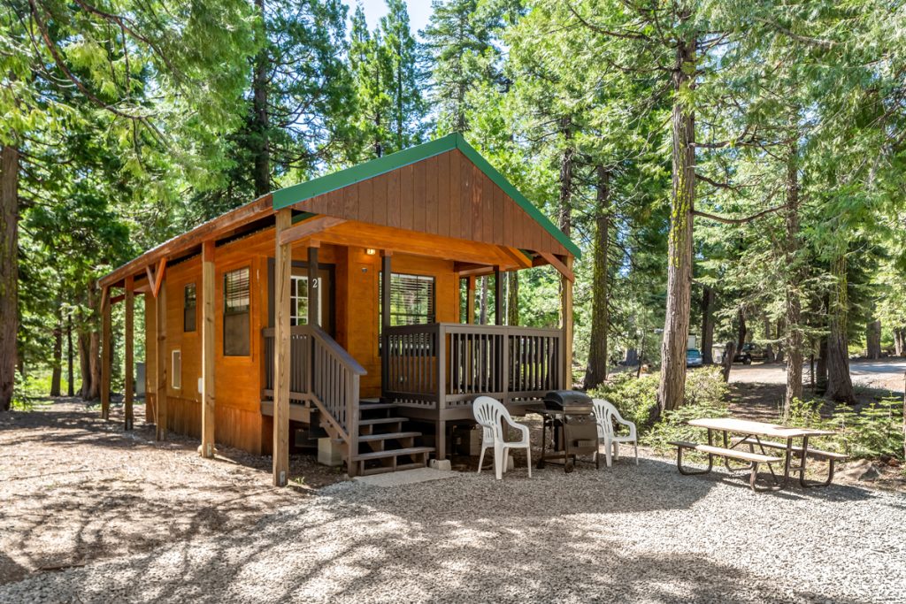
M 262 411 L 273 414 L 275 331 L 263 331 Z M 381 404 L 361 401 L 364 372 L 317 327 L 290 330 L 290 418 L 317 423 L 338 442 L 350 472 L 372 474 L 426 465 L 446 456 L 446 422 L 470 420 L 482 395 L 516 412 L 564 384 L 563 331 L 431 323 L 391 327 L 383 334 Z M 413 429 L 429 423 L 435 434 Z M 423 446 L 425 442 L 435 446 Z M 420 444 L 420 445 L 419 445 Z M 365 462 L 380 460 L 380 465 Z

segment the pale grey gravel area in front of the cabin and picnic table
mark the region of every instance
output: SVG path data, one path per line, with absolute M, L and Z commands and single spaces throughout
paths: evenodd
M 324 487 L 256 523 L 0 586 L 0 602 L 906 601 L 906 496 L 753 494 L 628 460 Z

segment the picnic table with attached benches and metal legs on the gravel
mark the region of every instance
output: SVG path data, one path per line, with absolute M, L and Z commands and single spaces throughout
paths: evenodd
M 818 430 L 814 428 L 803 427 L 786 427 L 778 424 L 768 424 L 766 422 L 752 421 L 748 419 L 736 419 L 734 417 L 702 417 L 700 419 L 690 419 L 689 426 L 701 427 L 708 430 L 708 445 L 699 445 L 686 441 L 674 441 L 670 443 L 677 447 L 677 468 L 683 475 L 707 474 L 714 466 L 714 457 L 723 457 L 724 464 L 730 472 L 736 472 L 740 469 L 748 469 L 751 472 L 749 485 L 753 491 L 757 491 L 756 479 L 759 464 L 766 464 L 774 480 L 774 487 L 781 488 L 789 482 L 790 473 L 799 473 L 799 484 L 804 487 L 826 486 L 831 484 L 834 479 L 834 463 L 843 461 L 846 456 L 830 451 L 819 451 L 808 446 L 808 439 L 812 436 L 832 435 L 832 430 Z M 719 432 L 723 436 L 723 446 L 716 446 L 714 443 L 714 433 Z M 730 435 L 741 436 L 733 442 Z M 775 440 L 771 440 L 771 439 Z M 801 439 L 801 443 L 794 444 L 794 440 Z M 747 446 L 748 451 L 744 451 L 740 446 Z M 690 470 L 682 465 L 682 452 L 684 449 L 696 450 L 700 453 L 708 454 L 708 469 Z M 767 450 L 779 450 L 783 456 L 769 455 Z M 798 458 L 798 465 L 793 465 L 793 458 Z M 827 479 L 821 483 L 810 483 L 805 480 L 805 467 L 809 457 L 826 459 L 830 466 L 828 468 Z M 746 462 L 748 465 L 742 468 L 734 468 L 731 465 L 732 460 Z M 783 483 L 777 480 L 774 471 L 775 464 L 783 464 Z

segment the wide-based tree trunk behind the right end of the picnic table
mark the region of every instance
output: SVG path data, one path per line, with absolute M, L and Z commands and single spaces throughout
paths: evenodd
M 848 283 L 846 279 L 845 250 L 831 264 L 834 290 L 829 312 L 830 334 L 827 337 L 827 391 L 826 398 L 837 402 L 853 402 L 853 379 L 849 373 L 849 345 L 846 338 L 847 313 L 849 312 Z

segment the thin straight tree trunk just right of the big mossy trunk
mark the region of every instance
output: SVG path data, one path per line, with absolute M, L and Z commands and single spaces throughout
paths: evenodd
M 783 417 L 789 417 L 793 400 L 802 398 L 803 326 L 802 301 L 799 286 L 804 275 L 799 261 L 799 148 L 796 142 L 790 145 L 786 158 L 786 216 L 784 219 L 786 237 L 784 255 L 786 260 L 786 287 L 784 304 L 786 310 L 786 391 L 784 393 Z M 779 327 L 779 325 L 778 325 Z

